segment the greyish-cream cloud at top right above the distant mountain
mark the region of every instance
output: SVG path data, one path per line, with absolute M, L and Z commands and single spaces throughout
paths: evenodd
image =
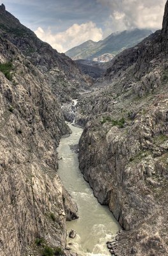
M 103 6 L 108 6 L 111 15 L 104 26 L 107 30 L 120 31 L 132 28 L 162 28 L 164 6 L 166 0 L 97 0 Z

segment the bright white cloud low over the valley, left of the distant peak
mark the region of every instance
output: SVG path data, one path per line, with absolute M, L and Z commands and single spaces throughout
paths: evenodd
M 59 52 L 66 52 L 68 49 L 80 45 L 87 40 L 99 41 L 102 39 L 102 29 L 97 28 L 96 24 L 92 21 L 81 25 L 73 24 L 66 31 L 57 34 L 53 34 L 50 28 L 45 31 L 41 27 L 34 31 L 34 33 Z

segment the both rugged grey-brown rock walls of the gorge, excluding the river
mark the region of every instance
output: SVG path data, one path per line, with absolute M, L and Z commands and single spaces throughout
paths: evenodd
M 57 147 L 74 116 L 84 127 L 81 172 L 123 228 L 111 254 L 168 254 L 167 20 L 168 2 L 162 30 L 93 84 L 0 6 L 0 255 L 70 254 L 66 220 L 78 213 L 57 175 Z

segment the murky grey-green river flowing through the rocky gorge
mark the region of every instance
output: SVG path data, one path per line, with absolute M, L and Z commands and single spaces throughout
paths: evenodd
M 67 246 L 80 256 L 110 255 L 106 242 L 111 241 L 120 226 L 107 206 L 99 204 L 89 184 L 83 179 L 78 167 L 78 154 L 73 152 L 71 145 L 78 144 L 82 129 L 69 124 L 72 134 L 60 140 L 58 148 L 59 176 L 64 187 L 73 196 L 78 205 L 79 219 L 67 221 L 67 231 L 72 228 L 76 237 L 67 237 Z

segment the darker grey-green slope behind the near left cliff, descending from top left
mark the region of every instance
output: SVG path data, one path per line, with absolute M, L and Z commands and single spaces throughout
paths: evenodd
M 0 35 L 20 49 L 27 60 L 46 76 L 46 82 L 52 86 L 61 102 L 76 99 L 79 89 L 88 88 L 90 81 L 81 75 L 74 61 L 39 40 L 31 29 L 20 24 L 4 6 L 0 6 L 0 12 Z

